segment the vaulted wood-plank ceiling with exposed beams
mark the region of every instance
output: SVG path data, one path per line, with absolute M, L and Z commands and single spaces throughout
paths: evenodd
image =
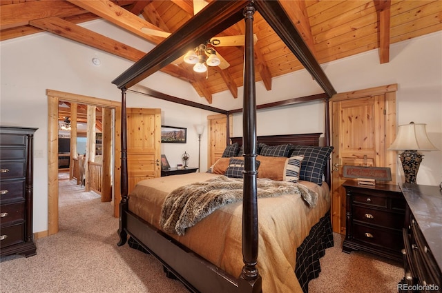
M 138 61 L 146 52 L 78 24 L 106 19 L 156 45 L 191 19 L 207 2 L 210 1 L 1 0 L 0 39 L 48 31 Z M 442 1 L 291 0 L 280 3 L 320 64 L 373 49 L 379 52 L 378 62 L 387 63 L 392 43 L 442 30 Z M 303 67 L 259 13 L 255 14 L 253 26 L 256 81 L 262 81 L 265 88 L 271 90 L 274 77 Z M 214 37 L 242 34 L 244 23 L 240 22 Z M 162 72 L 189 81 L 209 103 L 213 94 L 225 90 L 237 98 L 238 87 L 242 86 L 242 43 L 221 41 L 220 45 L 215 50 L 228 65 L 222 63 L 224 66 L 209 67 L 207 78 L 206 73 L 194 72 L 193 65 L 184 63 L 182 57 L 166 65 Z

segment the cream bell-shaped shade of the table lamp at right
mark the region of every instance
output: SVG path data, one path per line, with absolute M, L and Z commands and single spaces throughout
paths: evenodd
M 414 122 L 399 125 L 396 139 L 388 150 L 438 150 L 428 139 L 425 125 Z

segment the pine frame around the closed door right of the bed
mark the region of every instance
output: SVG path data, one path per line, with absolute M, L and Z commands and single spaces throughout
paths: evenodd
M 351 92 L 341 92 L 334 94 L 334 96 L 329 99 L 329 103 L 334 103 L 336 101 L 345 101 L 349 99 L 363 99 L 372 96 L 384 95 L 385 96 L 385 167 L 391 168 L 392 171 L 392 183 L 396 183 L 397 179 L 397 154 L 396 152 L 389 152 L 387 148 L 393 143 L 396 138 L 396 91 L 398 90 L 398 84 L 393 83 L 390 85 L 381 85 L 375 88 L 367 88 L 364 90 L 354 90 Z M 332 134 L 335 133 L 334 127 L 334 116 L 333 116 L 333 105 L 329 107 L 329 114 L 332 119 Z M 334 145 L 334 136 L 332 135 L 332 145 Z M 332 155 L 332 165 L 335 163 L 335 156 Z M 332 172 L 333 168 L 332 168 Z M 332 174 L 333 178 L 333 174 Z M 330 191 L 333 192 L 337 187 L 332 186 Z M 341 230 L 341 227 L 345 227 L 345 223 L 341 223 L 341 199 L 336 199 L 334 194 L 332 194 L 332 227 L 333 231 L 336 233 L 345 234 L 345 230 Z

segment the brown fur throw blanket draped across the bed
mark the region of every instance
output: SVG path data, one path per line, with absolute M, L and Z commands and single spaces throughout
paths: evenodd
M 219 176 L 177 188 L 166 196 L 160 225 L 166 232 L 184 235 L 186 228 L 195 225 L 222 205 L 242 201 L 242 185 L 242 179 Z M 299 183 L 257 179 L 257 187 L 258 198 L 300 194 L 311 207 L 318 200 L 316 192 Z

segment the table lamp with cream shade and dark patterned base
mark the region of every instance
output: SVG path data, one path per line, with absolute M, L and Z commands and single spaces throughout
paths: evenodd
M 416 184 L 416 176 L 423 154 L 418 150 L 438 150 L 428 139 L 426 124 L 410 122 L 410 124 L 399 125 L 396 139 L 388 150 L 403 150 L 399 155 L 402 162 L 405 183 Z

